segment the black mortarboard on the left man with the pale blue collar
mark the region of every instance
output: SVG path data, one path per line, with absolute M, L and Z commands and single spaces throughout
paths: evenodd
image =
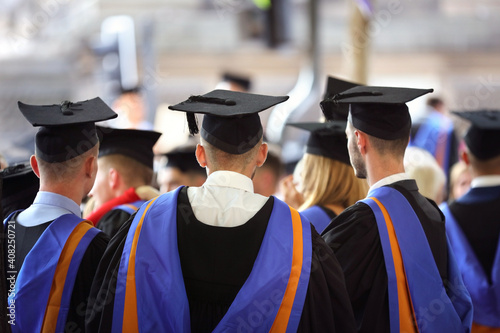
M 18 106 L 33 126 L 40 126 L 36 155 L 49 163 L 70 160 L 94 147 L 99 141 L 94 123 L 118 116 L 99 97 L 53 105 L 18 102 Z

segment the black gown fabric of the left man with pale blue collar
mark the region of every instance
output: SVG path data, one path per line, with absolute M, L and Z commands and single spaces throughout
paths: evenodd
M 16 213 L 12 219 L 15 220 L 17 215 L 18 213 Z M 16 222 L 15 271 L 19 272 L 24 263 L 24 259 L 50 223 L 52 223 L 52 221 L 34 227 L 24 227 Z M 97 271 L 100 258 L 106 250 L 108 241 L 109 238 L 104 233 L 98 233 L 90 242 L 85 254 L 83 255 L 82 262 L 80 263 L 80 267 L 78 268 L 76 275 L 73 292 L 71 294 L 68 318 L 65 326 L 66 332 L 84 332 L 85 330 L 85 309 L 87 307 L 90 288 L 92 286 L 92 281 L 94 279 L 95 272 Z M 5 248 L 4 252 L 7 253 Z M 6 261 L 7 258 L 5 257 L 4 260 Z M 4 269 L 7 270 L 7 267 L 4 267 Z

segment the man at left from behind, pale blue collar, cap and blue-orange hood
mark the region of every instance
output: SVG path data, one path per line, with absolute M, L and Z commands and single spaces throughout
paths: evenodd
M 29 208 L 4 221 L 7 230 L 15 230 L 15 260 L 8 261 L 17 278 L 9 295 L 15 309 L 11 328 L 83 331 L 90 286 L 108 237 L 81 218 L 80 204 L 97 173 L 94 122 L 116 114 L 98 97 L 60 105 L 19 102 L 19 109 L 40 126 L 30 160 L 40 190 Z

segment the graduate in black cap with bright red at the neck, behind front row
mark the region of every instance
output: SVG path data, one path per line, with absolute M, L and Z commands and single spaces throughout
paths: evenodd
M 86 216 L 110 237 L 142 204 L 160 193 L 153 180 L 153 146 L 161 133 L 97 127 L 99 171 L 90 196 L 94 211 Z

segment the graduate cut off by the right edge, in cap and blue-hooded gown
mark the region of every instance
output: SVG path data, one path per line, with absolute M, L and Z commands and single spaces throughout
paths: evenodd
M 472 332 L 500 332 L 500 111 L 454 113 L 471 122 L 462 160 L 472 182 L 468 192 L 441 209 L 474 304 Z

